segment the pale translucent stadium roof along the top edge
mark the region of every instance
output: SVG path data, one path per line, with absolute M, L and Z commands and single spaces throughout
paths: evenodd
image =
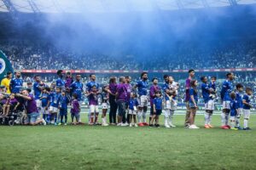
M 0 0 L 0 12 L 84 13 L 177 10 L 256 3 L 256 0 Z

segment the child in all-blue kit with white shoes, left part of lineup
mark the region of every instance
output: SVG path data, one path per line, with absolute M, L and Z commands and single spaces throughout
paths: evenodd
M 69 99 L 67 98 L 66 91 L 62 90 L 61 92 L 61 98 L 60 98 L 60 116 L 61 116 L 61 122 L 59 122 L 59 125 L 67 125 L 67 105 L 69 103 Z M 65 123 L 63 122 L 63 117 L 65 117 Z

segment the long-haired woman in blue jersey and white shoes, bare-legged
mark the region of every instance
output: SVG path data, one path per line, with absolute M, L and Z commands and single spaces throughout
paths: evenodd
M 191 80 L 190 88 L 189 88 L 189 108 L 190 108 L 189 128 L 199 128 L 195 126 L 195 114 L 196 114 L 197 102 L 198 102 L 197 85 L 198 84 L 196 80 Z

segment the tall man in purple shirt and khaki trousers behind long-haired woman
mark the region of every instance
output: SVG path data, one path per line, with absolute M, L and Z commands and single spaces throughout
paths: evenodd
M 185 102 L 186 102 L 186 116 L 185 116 L 185 123 L 184 127 L 189 127 L 189 116 L 190 116 L 190 108 L 189 108 L 189 88 L 190 88 L 190 82 L 195 77 L 195 71 L 193 69 L 189 70 L 189 77 L 186 79 L 186 95 L 185 95 Z

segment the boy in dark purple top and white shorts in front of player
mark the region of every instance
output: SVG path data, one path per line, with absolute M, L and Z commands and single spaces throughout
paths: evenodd
M 89 98 L 90 105 L 90 125 L 96 125 L 98 116 L 99 116 L 99 108 L 98 108 L 98 89 L 96 85 L 93 85 L 87 97 Z M 95 116 L 94 116 L 95 114 Z M 95 117 L 95 120 L 93 120 Z

